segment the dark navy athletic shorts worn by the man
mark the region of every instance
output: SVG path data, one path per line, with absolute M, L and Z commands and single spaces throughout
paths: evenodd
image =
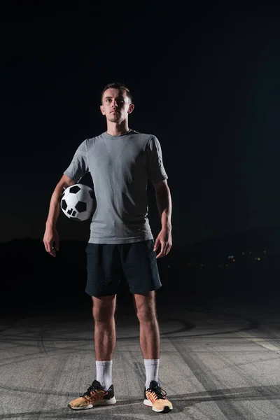
M 154 240 L 132 244 L 87 244 L 85 293 L 102 297 L 116 295 L 125 277 L 131 293 L 143 294 L 162 286 Z

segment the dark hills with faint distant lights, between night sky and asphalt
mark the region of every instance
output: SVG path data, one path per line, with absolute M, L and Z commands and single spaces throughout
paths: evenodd
M 232 304 L 275 305 L 279 295 L 280 246 L 275 237 L 226 237 L 185 247 L 174 246 L 159 258 L 162 287 L 158 302 L 168 307 L 178 300 L 192 304 L 232 302 Z M 257 240 L 255 240 L 257 239 Z M 0 244 L 2 272 L 1 311 L 41 311 L 63 300 L 90 306 L 85 293 L 87 241 L 62 240 L 57 256 L 45 252 L 40 239 L 13 239 Z M 17 255 L 15 264 L 14 257 Z M 11 288 L 12 286 L 12 288 Z M 132 295 L 120 279 L 118 300 L 130 302 Z

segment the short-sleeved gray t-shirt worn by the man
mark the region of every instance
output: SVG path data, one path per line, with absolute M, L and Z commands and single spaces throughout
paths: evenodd
M 97 201 L 89 242 L 125 244 L 153 239 L 147 183 L 168 178 L 158 139 L 134 130 L 120 136 L 104 132 L 86 139 L 64 174 L 78 183 L 87 172 Z

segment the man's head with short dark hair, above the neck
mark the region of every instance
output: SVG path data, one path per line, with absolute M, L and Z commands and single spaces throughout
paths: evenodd
M 121 123 L 132 113 L 134 105 L 127 97 L 125 89 L 110 88 L 105 90 L 100 110 L 111 123 Z

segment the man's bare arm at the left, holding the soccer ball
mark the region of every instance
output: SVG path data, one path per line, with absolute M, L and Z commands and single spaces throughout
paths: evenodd
M 45 223 L 45 235 L 43 237 L 43 243 L 45 245 L 45 251 L 55 257 L 55 251 L 59 250 L 59 236 L 55 228 L 58 216 L 60 214 L 60 200 L 62 194 L 66 188 L 73 186 L 75 181 L 69 178 L 69 176 L 62 175 L 59 183 L 55 187 L 50 199 L 50 208 L 48 211 L 48 218 Z

